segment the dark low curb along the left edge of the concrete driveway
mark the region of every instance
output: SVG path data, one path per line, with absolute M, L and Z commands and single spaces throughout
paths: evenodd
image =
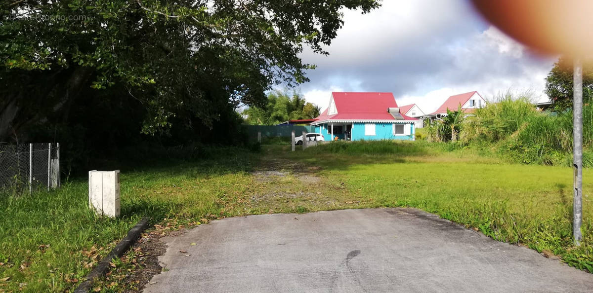
M 117 243 L 116 247 L 114 247 L 108 255 L 103 257 L 101 262 L 99 262 L 93 271 L 87 275 L 86 280 L 78 285 L 78 288 L 74 290 L 74 293 L 87 293 L 90 291 L 90 289 L 93 288 L 95 278 L 99 278 L 109 272 L 109 262 L 111 262 L 111 259 L 114 257 L 121 257 L 123 253 L 126 252 L 126 250 L 136 241 L 136 239 L 138 239 L 140 233 L 142 233 L 142 231 L 144 231 L 147 227 L 148 218 L 142 218 L 142 220 L 140 220 L 136 226 L 131 228 L 130 231 L 127 231 L 126 237 Z

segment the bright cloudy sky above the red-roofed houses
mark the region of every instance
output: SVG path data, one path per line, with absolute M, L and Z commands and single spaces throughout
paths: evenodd
M 326 108 L 331 91 L 393 92 L 398 105 L 425 113 L 454 94 L 531 91 L 545 100 L 544 78 L 555 57 L 535 56 L 483 21 L 465 0 L 384 0 L 368 14 L 345 11 L 345 24 L 326 48 L 305 50 L 307 101 Z

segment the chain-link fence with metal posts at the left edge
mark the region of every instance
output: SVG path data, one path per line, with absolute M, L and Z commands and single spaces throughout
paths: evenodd
M 60 144 L 0 145 L 0 188 L 60 186 Z

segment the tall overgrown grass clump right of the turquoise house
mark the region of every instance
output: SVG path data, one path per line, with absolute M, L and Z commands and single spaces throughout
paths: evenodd
M 584 164 L 591 166 L 593 105 L 584 107 Z M 526 95 L 500 96 L 463 123 L 462 146 L 490 147 L 520 163 L 569 165 L 572 111 L 538 111 Z

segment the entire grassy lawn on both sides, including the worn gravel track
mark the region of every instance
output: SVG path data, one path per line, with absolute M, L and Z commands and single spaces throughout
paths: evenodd
M 584 235 L 573 247 L 572 170 L 513 165 L 446 144 L 332 143 L 123 168 L 122 217 L 95 217 L 85 179 L 52 192 L 0 195 L 0 292 L 71 291 L 142 216 L 193 226 L 213 218 L 342 208 L 417 207 L 495 239 L 593 271 L 593 172 L 584 172 Z

